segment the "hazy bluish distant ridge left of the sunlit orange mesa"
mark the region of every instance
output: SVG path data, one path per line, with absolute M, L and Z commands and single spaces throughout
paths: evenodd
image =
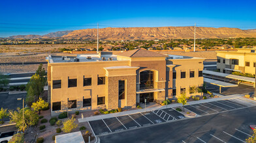
M 28 34 L 28 35 L 16 35 L 16 36 L 9 36 L 8 38 L 24 38 L 24 39 L 37 39 L 37 38 L 56 38 L 61 37 L 65 34 L 69 34 L 69 32 L 72 31 L 57 31 L 57 32 L 50 32 L 48 34 L 44 35 L 38 35 L 38 34 Z

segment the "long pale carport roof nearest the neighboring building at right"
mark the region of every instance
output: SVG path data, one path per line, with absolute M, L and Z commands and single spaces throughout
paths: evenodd
M 203 70 L 202 73 L 209 74 L 209 75 L 216 75 L 216 76 L 219 76 L 219 77 L 227 77 L 227 78 L 230 78 L 230 79 L 237 79 L 237 80 L 240 80 L 240 81 L 248 81 L 248 82 L 251 82 L 251 83 L 255 83 L 255 79 L 251 78 L 251 77 L 243 77 L 243 76 L 240 76 L 240 75 L 232 75 L 232 74 L 227 74 L 227 73 L 213 72 L 213 71 L 210 71 L 210 70 Z

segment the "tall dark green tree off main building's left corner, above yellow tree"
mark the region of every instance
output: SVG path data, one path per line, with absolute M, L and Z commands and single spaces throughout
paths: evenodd
M 39 99 L 40 94 L 42 93 L 44 89 L 44 85 L 42 84 L 42 80 L 40 79 L 40 76 L 35 73 L 35 75 L 32 75 L 31 79 L 29 80 L 29 83 L 27 83 L 26 91 L 29 91 L 29 87 L 33 88 L 35 96 L 37 96 L 37 99 Z

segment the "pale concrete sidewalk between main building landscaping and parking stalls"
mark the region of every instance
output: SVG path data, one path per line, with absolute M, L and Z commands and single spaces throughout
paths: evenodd
M 207 103 L 207 102 L 211 102 L 211 101 L 219 101 L 219 100 L 223 100 L 223 99 L 232 99 L 232 98 L 241 98 L 241 96 L 238 94 L 235 94 L 235 95 L 231 95 L 231 96 L 222 96 L 221 98 L 212 98 L 212 99 L 205 99 L 205 100 L 200 100 L 200 101 L 190 101 L 190 102 L 188 102 L 188 105 Z M 251 102 L 251 100 L 246 99 L 246 98 L 244 98 L 244 100 Z M 256 104 L 255 101 L 253 101 L 253 103 Z M 78 118 L 78 122 L 101 120 L 101 119 L 113 118 L 113 117 L 117 117 L 117 116 L 124 116 L 127 114 L 136 114 L 136 113 L 145 112 L 145 111 L 147 112 L 147 111 L 152 111 L 152 110 L 166 109 L 166 108 L 178 107 L 178 106 L 182 106 L 182 103 L 170 104 L 167 106 L 166 105 L 165 106 L 157 106 L 157 107 L 152 107 L 152 108 L 148 108 L 148 109 L 147 108 L 146 109 L 136 109 L 136 110 L 129 110 L 129 111 L 124 111 L 124 112 L 112 113 L 112 114 L 103 114 L 103 115 L 87 117 L 84 119 Z

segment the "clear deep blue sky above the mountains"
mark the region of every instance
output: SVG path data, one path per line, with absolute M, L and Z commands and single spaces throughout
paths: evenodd
M 5 0 L 0 37 L 104 27 L 191 26 L 256 29 L 256 1 Z

